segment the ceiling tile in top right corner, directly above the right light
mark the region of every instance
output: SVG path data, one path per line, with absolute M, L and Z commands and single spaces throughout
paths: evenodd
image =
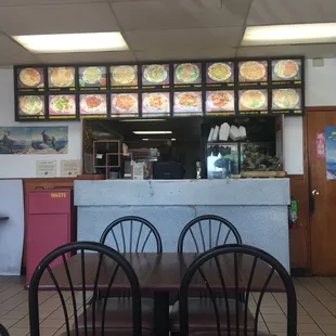
M 335 0 L 254 0 L 247 25 L 335 22 Z

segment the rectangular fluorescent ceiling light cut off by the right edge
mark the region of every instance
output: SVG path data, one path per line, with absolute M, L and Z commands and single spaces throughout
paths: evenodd
M 251 26 L 242 46 L 308 44 L 336 42 L 336 23 Z

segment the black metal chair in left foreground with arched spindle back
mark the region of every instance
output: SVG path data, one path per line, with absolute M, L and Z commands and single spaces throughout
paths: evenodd
M 68 259 L 70 255 L 73 257 Z M 105 297 L 98 301 L 99 289 L 109 293 L 117 276 L 129 284 L 131 297 Z M 70 243 L 43 258 L 29 285 L 31 336 L 40 335 L 38 294 L 41 280 L 59 294 L 64 313 L 64 336 L 153 335 L 154 307 L 142 305 L 139 281 L 132 267 L 108 246 L 93 242 Z M 73 327 L 69 319 L 74 320 Z

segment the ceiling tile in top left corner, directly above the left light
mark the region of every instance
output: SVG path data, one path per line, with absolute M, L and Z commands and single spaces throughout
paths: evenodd
M 108 3 L 3 7 L 0 30 L 8 35 L 118 30 Z

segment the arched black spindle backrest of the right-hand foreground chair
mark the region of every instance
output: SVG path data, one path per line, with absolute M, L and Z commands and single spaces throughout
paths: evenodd
M 214 309 L 208 335 L 257 336 L 260 311 L 270 300 L 282 302 L 287 320 L 287 336 L 297 333 L 295 287 L 285 268 L 268 253 L 247 245 L 215 247 L 201 255 L 186 270 L 180 287 L 180 332 L 189 335 L 189 290 L 198 284 L 207 292 L 208 307 Z M 221 298 L 218 298 L 218 290 Z M 216 294 L 215 294 L 216 293 Z M 242 299 L 242 294 L 243 299 Z M 264 306 L 264 300 L 267 305 Z M 287 316 L 287 318 L 286 318 Z M 261 332 L 261 333 L 260 333 Z

